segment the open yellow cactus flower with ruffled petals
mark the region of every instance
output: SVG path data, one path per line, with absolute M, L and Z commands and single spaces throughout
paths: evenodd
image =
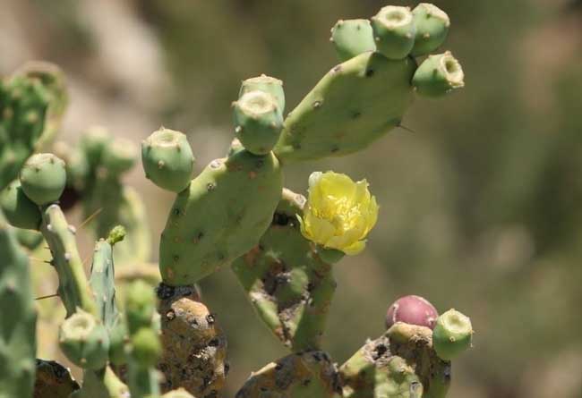
M 355 255 L 364 250 L 365 237 L 378 218 L 378 204 L 365 180 L 346 174 L 315 172 L 309 177 L 309 197 L 301 233 L 325 249 Z

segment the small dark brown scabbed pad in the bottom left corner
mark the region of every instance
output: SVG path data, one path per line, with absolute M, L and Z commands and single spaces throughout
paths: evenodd
M 79 390 L 71 370 L 55 360 L 37 359 L 33 398 L 65 398 Z

